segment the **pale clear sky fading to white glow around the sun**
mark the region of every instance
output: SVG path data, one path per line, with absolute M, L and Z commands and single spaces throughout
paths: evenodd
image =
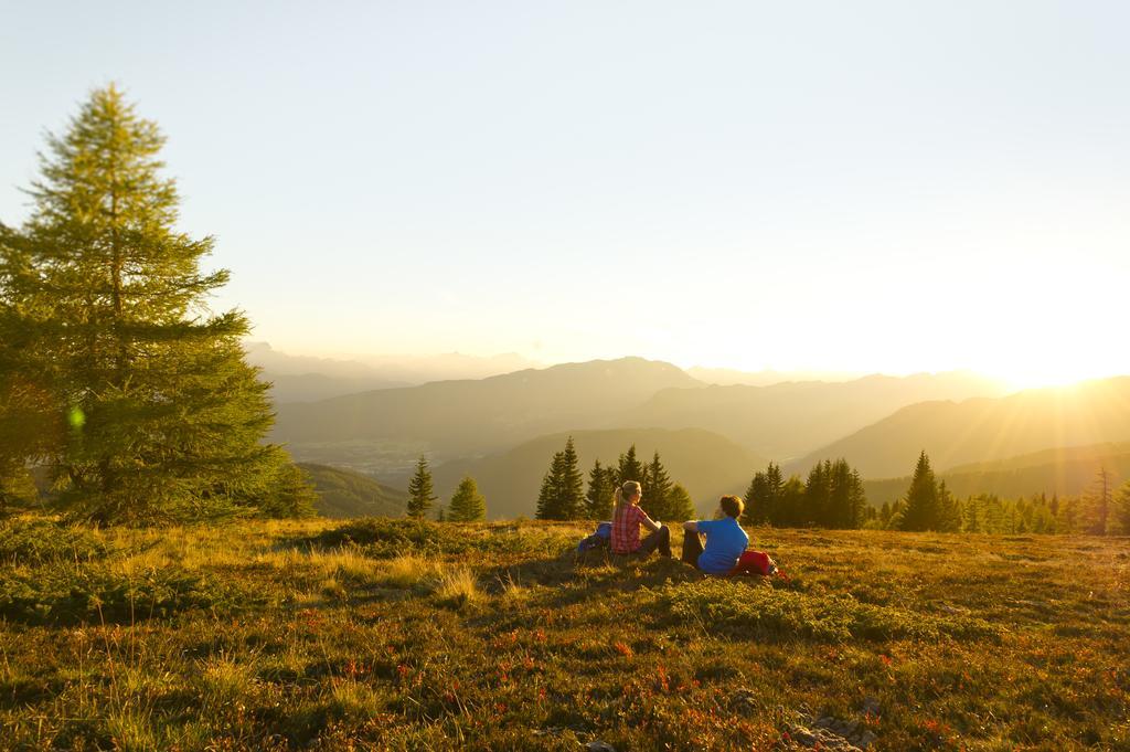
M 1124 2 L 0 6 L 0 221 L 114 81 L 277 349 L 1130 373 Z

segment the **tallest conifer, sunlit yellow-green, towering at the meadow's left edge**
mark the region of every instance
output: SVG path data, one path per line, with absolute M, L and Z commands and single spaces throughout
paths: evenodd
M 0 337 L 19 330 L 21 373 L 64 422 L 43 459 L 94 520 L 312 513 L 301 473 L 261 443 L 273 416 L 240 345 L 247 319 L 206 306 L 228 279 L 200 270 L 212 239 L 174 228 L 163 144 L 116 88 L 94 92 L 49 137 L 29 221 L 5 233 L 18 263 Z

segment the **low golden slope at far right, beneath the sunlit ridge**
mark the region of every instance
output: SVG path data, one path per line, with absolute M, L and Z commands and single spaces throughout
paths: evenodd
M 1096 444 L 1048 449 L 994 463 L 963 465 L 942 473 L 941 478 L 958 498 L 994 493 L 1016 499 L 1046 493 L 1076 496 L 1095 482 L 1095 473 L 1105 467 L 1114 481 L 1130 478 L 1130 443 Z M 872 504 L 894 502 L 906 493 L 910 476 L 867 481 L 867 498 Z

